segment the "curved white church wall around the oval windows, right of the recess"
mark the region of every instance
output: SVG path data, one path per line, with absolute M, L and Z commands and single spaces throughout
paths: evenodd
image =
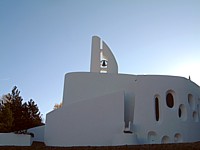
M 173 91 L 174 106 L 166 104 L 166 94 Z M 192 113 L 198 112 L 199 87 L 190 80 L 172 76 L 140 76 L 135 90 L 134 128 L 140 143 L 195 142 L 200 140 L 199 121 L 194 121 Z M 188 94 L 194 95 L 195 108 L 188 103 Z M 155 119 L 155 97 L 159 97 L 159 121 Z M 186 119 L 178 116 L 179 106 L 185 106 Z M 144 116 L 144 117 L 141 117 Z M 198 116 L 199 118 L 199 116 Z M 152 137 L 153 133 L 153 137 Z M 148 138 L 148 135 L 151 135 Z M 155 135 L 155 136 L 154 136 Z M 178 137 L 178 139 L 177 139 Z M 152 139 L 151 139 L 152 138 Z

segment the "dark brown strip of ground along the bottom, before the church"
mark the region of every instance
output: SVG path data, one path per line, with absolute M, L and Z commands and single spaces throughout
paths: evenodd
M 101 147 L 50 147 L 45 146 L 44 143 L 34 142 L 32 146 L 0 146 L 0 150 L 199 150 L 200 142 L 182 143 L 182 144 L 146 144 L 133 146 L 101 146 Z

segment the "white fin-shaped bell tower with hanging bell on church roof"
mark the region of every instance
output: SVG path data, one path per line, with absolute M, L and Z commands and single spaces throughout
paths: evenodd
M 90 72 L 118 73 L 118 65 L 113 53 L 97 36 L 92 37 Z

